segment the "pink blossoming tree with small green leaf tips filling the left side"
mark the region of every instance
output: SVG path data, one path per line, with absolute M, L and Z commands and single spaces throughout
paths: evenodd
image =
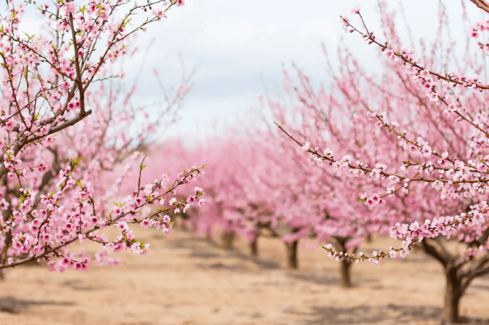
M 139 177 L 125 201 L 108 204 L 124 181 L 125 164 L 137 162 L 143 172 L 133 151 L 157 126 L 149 118 L 132 121 L 144 110 L 131 104 L 133 92 L 122 95 L 108 83 L 121 76 L 109 67 L 128 54 L 134 35 L 183 3 L 6 2 L 0 15 L 0 270 L 41 260 L 51 270 L 86 270 L 89 256 L 69 251 L 75 241 L 100 244 L 97 264 L 116 264 L 111 251 L 145 255 L 149 244 L 137 240 L 130 225 L 169 232 L 166 212 L 199 200 L 198 187 L 186 201 L 173 197 L 200 175 L 192 167 L 175 181 L 163 175 L 144 185 Z M 28 35 L 22 22 L 32 11 L 48 28 Z M 174 99 L 187 91 L 180 87 Z M 150 213 L 152 204 L 160 208 Z M 120 235 L 109 239 L 99 231 L 107 227 Z

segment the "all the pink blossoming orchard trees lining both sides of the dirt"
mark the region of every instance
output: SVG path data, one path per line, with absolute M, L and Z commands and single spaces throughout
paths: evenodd
M 484 0 L 466 2 L 489 13 Z M 91 258 L 117 264 L 110 253 L 148 252 L 134 224 L 169 233 L 171 217 L 181 214 L 197 232 L 212 236 L 218 225 L 243 236 L 254 255 L 260 235 L 279 237 L 291 268 L 298 266 L 299 240 L 313 236 L 326 243 L 325 257 L 340 262 L 345 287 L 353 262 L 380 264 L 420 246 L 443 266 L 445 319 L 458 321 L 470 282 L 489 273 L 489 84 L 482 77 L 489 20 L 470 24 L 457 57 L 443 5 L 437 38 L 420 52 L 402 44 L 384 3 L 380 33 L 356 6 L 341 18 L 344 29 L 376 48 L 382 69 L 365 69 L 361 55 L 342 44 L 337 62 L 330 61 L 331 46 L 324 46 L 327 84 L 313 87 L 294 66 L 284 71 L 284 96 L 262 98 L 275 125 L 256 115 L 253 127 L 190 150 L 151 144 L 156 130 L 174 120 L 190 85 L 177 85 L 150 116 L 148 107 L 134 104 L 135 86 L 117 81 L 122 72 L 110 72 L 133 54 L 138 34 L 183 4 L 6 1 L 0 270 L 31 261 L 57 271 L 86 270 Z M 37 34 L 20 28 L 26 11 L 43 20 Z M 151 157 L 144 160 L 147 148 Z M 189 185 L 203 175 L 195 167 L 202 163 L 205 177 Z M 120 235 L 108 238 L 101 231 L 107 227 Z M 399 245 L 359 252 L 372 234 L 390 234 Z M 84 241 L 98 243 L 100 252 L 69 250 Z

